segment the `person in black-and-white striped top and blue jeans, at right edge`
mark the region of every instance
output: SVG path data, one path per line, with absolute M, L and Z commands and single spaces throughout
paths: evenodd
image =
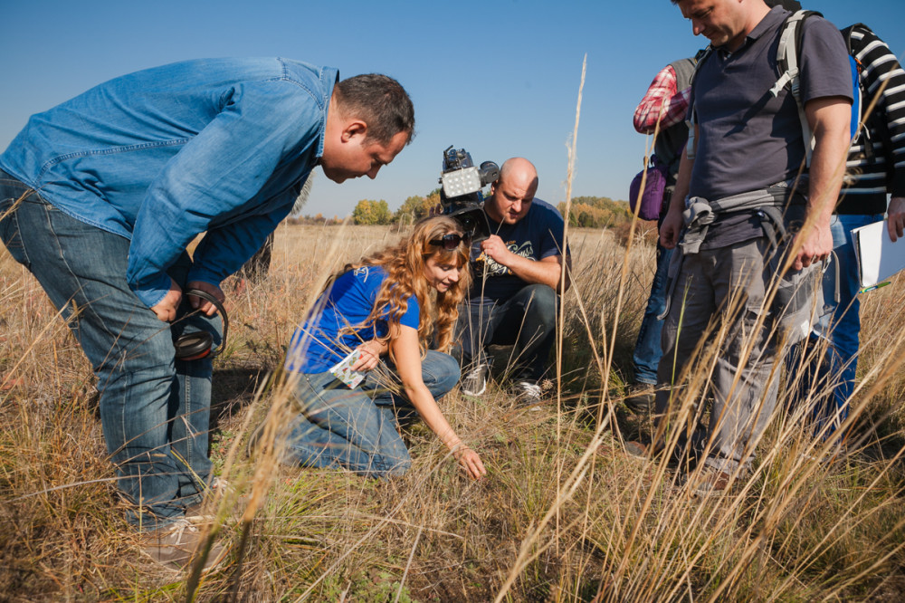
M 828 312 L 808 340 L 818 350 L 822 340 L 828 341 L 829 358 L 816 358 L 814 348 L 808 351 L 802 345 L 787 363 L 790 376 L 795 375 L 792 402 L 814 400 L 815 432 L 821 436 L 829 436 L 848 416 L 858 366 L 861 285 L 852 231 L 881 221 L 884 211 L 892 241 L 905 231 L 905 71 L 866 25 L 851 25 L 842 34 L 859 65 L 864 127 L 849 149 L 842 194 L 830 224 L 834 256 L 823 283 Z

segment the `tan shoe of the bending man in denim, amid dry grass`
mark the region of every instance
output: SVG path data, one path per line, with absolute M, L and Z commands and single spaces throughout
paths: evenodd
M 141 535 L 141 552 L 167 570 L 181 571 L 204 551 L 207 534 L 202 535 L 198 526 L 186 519 L 179 519 L 155 531 Z M 212 542 L 207 551 L 203 572 L 214 570 L 226 558 L 229 551 L 219 542 Z

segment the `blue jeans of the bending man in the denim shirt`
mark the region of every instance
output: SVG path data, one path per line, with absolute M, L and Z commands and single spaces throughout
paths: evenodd
M 7 250 L 62 310 L 90 360 L 119 488 L 137 505 L 129 522 L 155 529 L 181 517 L 211 474 L 212 363 L 176 361 L 173 340 L 203 329 L 219 344 L 219 318 L 159 321 L 126 282 L 128 239 L 63 214 L 3 171 L 0 216 Z M 170 270 L 180 285 L 190 264 L 184 254 Z M 186 313 L 184 299 L 180 316 Z

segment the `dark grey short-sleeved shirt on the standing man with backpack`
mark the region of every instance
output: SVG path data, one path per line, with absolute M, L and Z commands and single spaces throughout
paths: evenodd
M 716 48 L 700 65 L 692 89 L 698 147 L 691 196 L 718 200 L 797 174 L 805 143 L 795 99 L 787 87 L 776 98 L 770 94 L 779 76 L 779 29 L 788 14 L 774 7 L 737 51 Z M 847 51 L 833 24 L 818 16 L 805 21 L 799 65 L 805 103 L 852 98 Z M 702 246 L 725 246 L 761 235 L 756 216 L 726 215 L 711 225 Z

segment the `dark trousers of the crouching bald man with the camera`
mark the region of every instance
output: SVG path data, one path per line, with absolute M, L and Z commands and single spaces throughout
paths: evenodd
M 522 378 L 539 379 L 557 328 L 557 294 L 543 284 L 526 285 L 506 302 L 478 298 L 459 311 L 457 335 L 462 366 L 487 364 L 491 344 L 514 345 L 513 358 Z

